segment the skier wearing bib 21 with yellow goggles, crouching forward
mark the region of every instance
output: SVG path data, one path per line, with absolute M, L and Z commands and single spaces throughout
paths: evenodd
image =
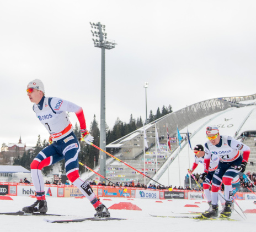
M 209 172 L 211 154 L 217 154 L 220 158 L 218 168 L 212 179 L 211 200 L 212 211 L 202 213 L 202 217 L 210 218 L 218 216 L 218 190 L 223 181 L 225 186 L 225 208 L 220 217 L 231 216 L 233 189 L 231 182 L 239 172 L 246 170 L 246 164 L 250 155 L 250 148 L 233 139 L 231 136 L 220 135 L 216 126 L 207 126 L 206 136 L 209 139 L 205 143 L 205 174 Z M 243 157 L 240 153 L 243 151 Z

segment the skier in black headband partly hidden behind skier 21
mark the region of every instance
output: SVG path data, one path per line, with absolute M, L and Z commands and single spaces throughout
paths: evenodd
M 204 165 L 204 158 L 205 158 L 205 152 L 204 147 L 199 144 L 194 147 L 194 153 L 195 153 L 195 162 L 193 163 L 193 166 L 191 169 L 188 169 L 188 173 L 192 174 L 196 167 L 198 167 L 198 164 L 201 163 Z M 214 172 L 218 167 L 218 161 L 220 158 L 216 154 L 211 154 L 210 157 L 210 166 L 209 166 L 209 172 L 208 174 L 203 173 L 200 178 L 203 180 L 202 187 L 204 188 L 204 194 L 207 199 L 207 203 L 209 204 L 209 209 L 207 209 L 205 212 L 210 212 L 212 210 L 212 203 L 211 203 L 211 192 L 210 192 L 210 186 L 212 177 L 214 176 Z M 222 195 L 221 191 L 219 190 L 219 194 Z M 220 200 L 221 205 L 225 205 L 225 200 L 220 197 L 218 200 Z

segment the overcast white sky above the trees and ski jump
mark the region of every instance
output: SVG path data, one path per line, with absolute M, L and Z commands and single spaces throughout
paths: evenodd
M 177 111 L 215 97 L 256 93 L 256 2 L 183 0 L 0 0 L 0 144 L 35 146 L 49 135 L 26 86 L 83 107 L 100 121 L 100 48 L 90 24 L 106 25 L 118 45 L 106 50 L 106 123 Z M 71 121 L 77 121 L 74 114 Z

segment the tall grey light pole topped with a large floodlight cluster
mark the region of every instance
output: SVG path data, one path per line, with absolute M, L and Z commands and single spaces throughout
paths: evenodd
M 105 25 L 99 23 L 90 23 L 92 27 L 92 35 L 94 47 L 102 49 L 102 79 L 101 79 L 101 94 L 100 94 L 100 144 L 99 147 L 106 150 L 106 105 L 105 105 L 105 49 L 115 48 L 115 41 L 107 40 L 105 33 Z M 99 153 L 99 173 L 106 176 L 106 154 L 102 151 Z M 100 181 L 104 179 L 101 177 Z

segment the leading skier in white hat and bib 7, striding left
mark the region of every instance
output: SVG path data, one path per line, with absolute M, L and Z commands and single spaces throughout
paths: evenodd
M 80 151 L 79 142 L 73 132 L 73 126 L 66 112 L 74 112 L 79 120 L 81 133 L 84 141 L 88 144 L 93 141 L 93 136 L 89 134 L 86 127 L 82 107 L 72 102 L 68 102 L 58 97 L 45 97 L 44 84 L 39 79 L 30 81 L 26 89 L 30 102 L 34 103 L 33 110 L 40 123 L 45 126 L 50 133 L 49 143 L 30 164 L 31 177 L 35 186 L 37 201 L 28 207 L 24 207 L 24 212 L 47 212 L 47 204 L 44 190 L 44 179 L 42 178 L 42 168 L 65 159 L 67 178 L 78 187 L 84 196 L 92 203 L 96 213 L 95 217 L 110 217 L 106 208 L 99 198 L 94 194 L 89 183 L 83 181 L 78 173 L 78 153 Z

